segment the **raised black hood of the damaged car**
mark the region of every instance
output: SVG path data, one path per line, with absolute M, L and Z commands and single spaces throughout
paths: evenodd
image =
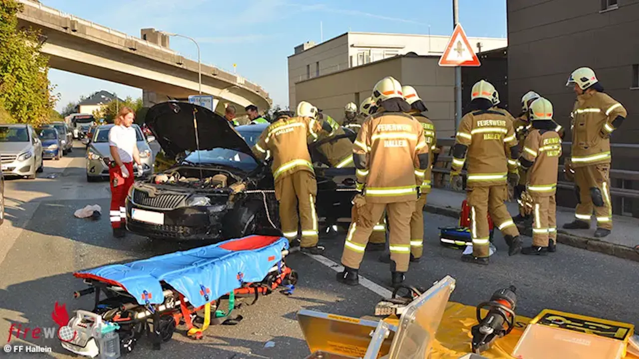
M 144 122 L 164 152 L 174 158 L 184 151 L 197 149 L 194 116 L 197 119 L 199 149 L 235 149 L 250 155 L 258 164 L 262 163 L 226 118 L 204 107 L 187 102 L 158 103 L 146 113 Z

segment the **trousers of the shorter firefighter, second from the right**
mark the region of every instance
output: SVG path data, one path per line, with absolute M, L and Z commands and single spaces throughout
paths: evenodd
M 532 197 L 532 245 L 548 247 L 548 241 L 557 243 L 557 202 L 553 195 Z

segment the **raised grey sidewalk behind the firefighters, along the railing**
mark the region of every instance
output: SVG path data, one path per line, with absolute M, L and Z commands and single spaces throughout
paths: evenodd
M 461 202 L 466 198 L 464 192 L 454 192 L 442 188 L 433 188 L 428 194 L 424 210 L 431 213 L 459 217 Z M 518 213 L 516 202 L 506 202 L 511 215 Z M 610 256 L 639 261 L 639 218 L 613 215 L 613 230 L 606 238 L 594 238 L 592 234 L 596 224 L 591 229 L 562 229 L 564 223 L 573 222 L 574 209 L 557 207 L 557 241 L 565 245 L 609 254 Z M 520 232 L 530 236 L 531 231 Z

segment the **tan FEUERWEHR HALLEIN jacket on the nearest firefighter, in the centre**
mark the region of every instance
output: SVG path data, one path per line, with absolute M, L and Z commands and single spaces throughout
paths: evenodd
M 424 129 L 412 116 L 402 112 L 370 116 L 353 144 L 357 181 L 366 186 L 366 201 L 415 201 L 426 171 L 420 155 L 426 155 L 427 162 L 427 153 Z

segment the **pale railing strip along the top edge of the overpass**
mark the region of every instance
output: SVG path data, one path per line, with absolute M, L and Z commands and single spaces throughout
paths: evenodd
M 75 20 L 79 24 L 82 24 L 84 26 L 88 26 L 88 27 L 91 27 L 91 28 L 99 30 L 99 31 L 104 31 L 105 33 L 109 33 L 111 35 L 118 36 L 120 38 L 124 38 L 124 39 L 127 39 L 127 40 L 132 40 L 132 41 L 135 41 L 137 43 L 141 43 L 144 46 L 152 47 L 153 49 L 160 50 L 160 51 L 163 51 L 163 52 L 167 52 L 168 54 L 172 54 L 172 55 L 176 55 L 176 56 L 182 56 L 182 57 L 185 57 L 185 59 L 189 59 L 190 61 L 197 62 L 197 60 L 194 60 L 194 59 L 192 59 L 192 58 L 190 58 L 188 56 L 183 56 L 182 54 L 180 54 L 180 52 L 177 52 L 175 50 L 171 50 L 171 49 L 168 49 L 166 47 L 162 47 L 160 45 L 157 45 L 155 43 L 148 42 L 148 40 L 143 40 L 141 38 L 137 38 L 135 36 L 131 36 L 129 34 L 121 32 L 121 31 L 111 29 L 110 27 L 106 27 L 106 26 L 102 26 L 102 25 L 96 24 L 93 21 L 82 19 L 80 17 L 77 17 L 77 16 L 69 14 L 69 13 L 65 13 L 65 12 L 60 11 L 58 9 L 50 8 L 49 6 L 45 6 L 45 5 L 41 4 L 41 3 L 36 3 L 35 1 L 31 1 L 31 0 L 18 0 L 18 1 L 20 3 L 22 3 L 22 4 L 27 5 L 27 6 L 31 6 L 33 8 L 38 8 L 39 10 L 45 11 L 47 13 L 51 13 L 51 14 L 56 15 L 56 16 L 66 17 L 66 18 L 68 18 L 70 20 Z M 236 73 L 233 73 L 233 72 L 231 72 L 229 70 L 226 70 L 225 68 L 221 68 L 221 67 L 215 66 L 215 65 L 209 65 L 209 64 L 206 64 L 206 63 L 202 63 L 202 65 L 209 66 L 211 68 L 215 68 L 217 70 L 220 70 L 221 72 L 226 72 L 229 75 L 235 75 L 235 77 L 237 78 L 236 82 L 238 84 L 240 84 L 240 85 L 247 86 L 249 88 L 250 87 L 254 87 L 254 89 L 256 91 L 261 90 L 263 92 L 266 92 L 266 91 L 264 91 L 264 89 L 261 86 L 259 86 L 255 82 L 252 82 L 252 81 L 246 79 L 245 77 L 237 75 Z

